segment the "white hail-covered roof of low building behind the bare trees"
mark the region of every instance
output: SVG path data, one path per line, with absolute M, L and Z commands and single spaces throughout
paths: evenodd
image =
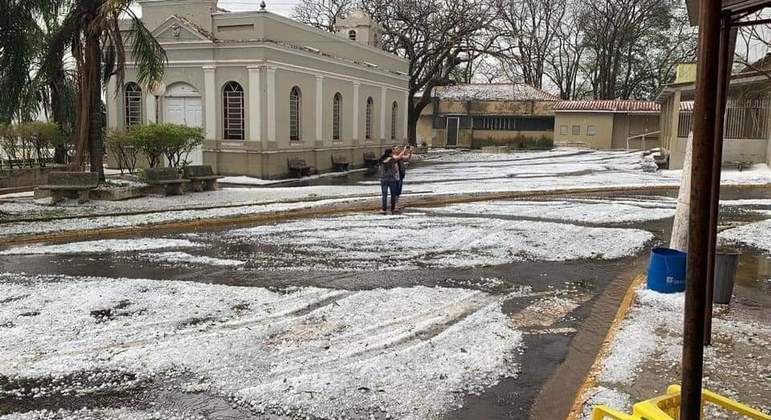
M 455 101 L 558 101 L 559 97 L 524 83 L 468 83 L 434 88 L 434 96 Z

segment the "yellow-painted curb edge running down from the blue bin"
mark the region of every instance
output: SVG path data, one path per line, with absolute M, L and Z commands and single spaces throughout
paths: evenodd
M 613 342 L 613 339 L 616 338 L 616 334 L 618 334 L 621 322 L 626 318 L 629 309 L 632 308 L 632 303 L 634 303 L 635 297 L 637 296 L 638 287 L 645 282 L 646 277 L 647 276 L 644 273 L 638 274 L 637 277 L 632 280 L 626 293 L 624 293 L 624 298 L 618 306 L 616 316 L 613 318 L 613 322 L 611 322 L 610 328 L 608 328 L 608 333 L 602 341 L 600 351 L 597 352 L 597 357 L 594 359 L 594 363 L 592 363 L 592 367 L 589 369 L 589 373 L 586 375 L 584 383 L 578 388 L 576 397 L 573 400 L 573 408 L 570 409 L 570 414 L 568 414 L 566 420 L 578 420 L 581 417 L 584 405 L 584 394 L 586 394 L 586 391 L 597 385 L 597 376 L 600 374 L 602 365 L 608 357 L 610 345 Z

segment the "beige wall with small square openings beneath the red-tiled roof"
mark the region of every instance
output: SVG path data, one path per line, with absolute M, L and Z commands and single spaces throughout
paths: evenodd
M 573 126 L 579 134 L 573 135 Z M 594 126 L 595 134 L 588 135 L 587 127 Z M 567 127 L 567 134 L 562 127 Z M 593 149 L 610 149 L 613 142 L 613 114 L 610 112 L 559 112 L 554 113 L 554 143 L 581 145 Z

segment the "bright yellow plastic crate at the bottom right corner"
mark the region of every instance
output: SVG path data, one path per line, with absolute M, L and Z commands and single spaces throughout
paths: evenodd
M 747 407 L 730 398 L 702 389 L 702 418 L 704 417 L 704 404 L 710 403 L 722 407 L 736 414 L 741 414 L 753 420 L 771 420 L 771 416 L 758 410 Z M 680 385 L 670 385 L 667 393 L 646 401 L 639 402 L 632 407 L 632 414 L 616 411 L 604 405 L 595 406 L 592 410 L 592 420 L 680 420 Z

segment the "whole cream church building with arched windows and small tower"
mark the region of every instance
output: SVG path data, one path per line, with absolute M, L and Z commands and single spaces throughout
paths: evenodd
M 319 171 L 332 156 L 354 165 L 403 143 L 408 63 L 378 48 L 362 12 L 336 34 L 267 10 L 228 12 L 216 0 L 140 0 L 142 20 L 168 55 L 151 92 L 127 63 L 108 83 L 108 128 L 170 122 L 204 128 L 195 163 L 223 175 L 276 178 L 290 159 Z

